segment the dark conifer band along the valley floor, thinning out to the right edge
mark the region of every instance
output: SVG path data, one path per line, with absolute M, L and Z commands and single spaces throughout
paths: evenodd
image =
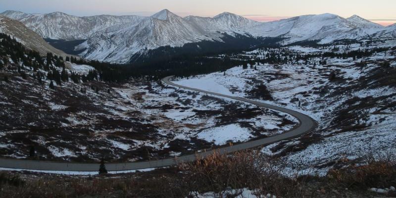
M 177 50 L 181 50 L 179 48 Z M 87 64 L 93 66 L 99 75 L 99 79 L 102 81 L 120 82 L 128 80 L 130 78 L 146 78 L 148 81 L 156 81 L 165 76 L 174 75 L 179 77 L 186 77 L 198 74 L 205 74 L 211 72 L 224 72 L 225 70 L 232 68 L 237 65 L 247 64 L 252 65 L 257 63 L 269 63 L 269 64 L 286 64 L 290 62 L 297 62 L 303 60 L 308 64 L 308 60 L 315 57 L 321 57 L 322 60 L 318 64 L 326 65 L 325 58 L 362 58 L 368 57 L 375 53 L 384 52 L 390 48 L 374 48 L 358 49 L 349 52 L 320 52 L 316 54 L 301 54 L 293 51 L 283 51 L 280 47 L 266 48 L 269 51 L 265 55 L 254 54 L 252 57 L 238 55 L 234 52 L 225 53 L 222 56 L 210 56 L 207 55 L 193 55 L 193 54 L 182 54 L 174 52 L 164 55 L 158 51 L 172 51 L 175 48 L 163 47 L 151 51 L 149 57 L 156 57 L 161 54 L 161 58 L 152 58 L 150 61 L 147 59 L 143 62 L 135 62 L 133 64 L 111 64 L 99 61 L 89 61 L 84 59 L 70 58 L 70 61 L 76 64 Z

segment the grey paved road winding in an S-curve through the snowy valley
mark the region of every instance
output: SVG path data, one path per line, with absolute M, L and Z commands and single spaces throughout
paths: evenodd
M 255 148 L 262 145 L 272 144 L 281 140 L 287 140 L 291 138 L 295 138 L 304 133 L 307 133 L 313 130 L 316 127 L 316 122 L 307 115 L 299 113 L 297 111 L 287 109 L 284 107 L 279 107 L 271 104 L 266 104 L 250 99 L 244 99 L 240 97 L 227 96 L 223 94 L 218 94 L 214 92 L 208 92 L 204 90 L 199 90 L 195 88 L 190 88 L 186 86 L 177 85 L 175 83 L 170 82 L 169 80 L 172 76 L 165 77 L 162 81 L 166 84 L 169 84 L 174 87 L 179 87 L 183 89 L 188 89 L 196 92 L 202 92 L 210 95 L 220 96 L 229 99 L 240 100 L 243 102 L 251 103 L 259 107 L 269 108 L 277 111 L 281 111 L 284 113 L 288 113 L 294 117 L 296 117 L 299 121 L 299 125 L 292 130 L 285 132 L 283 134 L 271 136 L 268 138 L 254 140 L 246 143 L 241 143 L 238 145 L 234 145 L 232 147 L 218 148 L 217 152 L 231 153 L 238 150 L 244 150 L 248 148 Z M 205 152 L 197 153 L 200 157 L 205 157 L 211 154 L 213 151 L 207 150 Z M 144 161 L 144 162 L 125 162 L 125 163 L 106 163 L 106 169 L 108 171 L 128 171 L 128 170 L 138 170 L 138 169 L 148 169 L 148 168 L 157 168 L 163 166 L 175 165 L 179 162 L 190 162 L 196 159 L 196 154 L 189 154 L 175 158 L 167 158 L 160 160 L 152 160 L 152 161 Z M 1 158 L 0 159 L 0 167 L 7 169 L 22 169 L 22 170 L 39 170 L 39 171 L 65 171 L 65 172 L 74 172 L 74 171 L 87 171 L 87 172 L 97 172 L 99 170 L 98 163 L 77 163 L 77 162 L 55 162 L 55 161 L 41 161 L 41 160 L 27 160 L 27 159 L 8 159 Z

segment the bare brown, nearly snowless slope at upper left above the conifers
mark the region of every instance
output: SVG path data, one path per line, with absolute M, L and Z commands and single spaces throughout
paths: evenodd
M 25 48 L 38 51 L 43 55 L 47 52 L 60 56 L 67 55 L 63 51 L 50 46 L 41 36 L 17 20 L 0 16 L 0 32 L 14 37 Z

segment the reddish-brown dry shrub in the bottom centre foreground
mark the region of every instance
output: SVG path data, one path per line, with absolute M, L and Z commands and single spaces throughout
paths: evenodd
M 183 180 L 190 192 L 221 194 L 226 188 L 249 188 L 260 195 L 303 197 L 307 192 L 303 178 L 289 179 L 281 174 L 279 160 L 247 150 L 230 155 L 214 152 L 194 163 L 181 164 Z

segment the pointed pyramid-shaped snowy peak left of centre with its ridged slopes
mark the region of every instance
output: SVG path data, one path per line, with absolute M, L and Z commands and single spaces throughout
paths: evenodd
M 82 46 L 87 48 L 83 54 L 88 59 L 127 62 L 134 53 L 144 49 L 183 46 L 213 38 L 206 37 L 204 31 L 182 17 L 162 10 L 137 25 L 125 24 L 99 31 Z

